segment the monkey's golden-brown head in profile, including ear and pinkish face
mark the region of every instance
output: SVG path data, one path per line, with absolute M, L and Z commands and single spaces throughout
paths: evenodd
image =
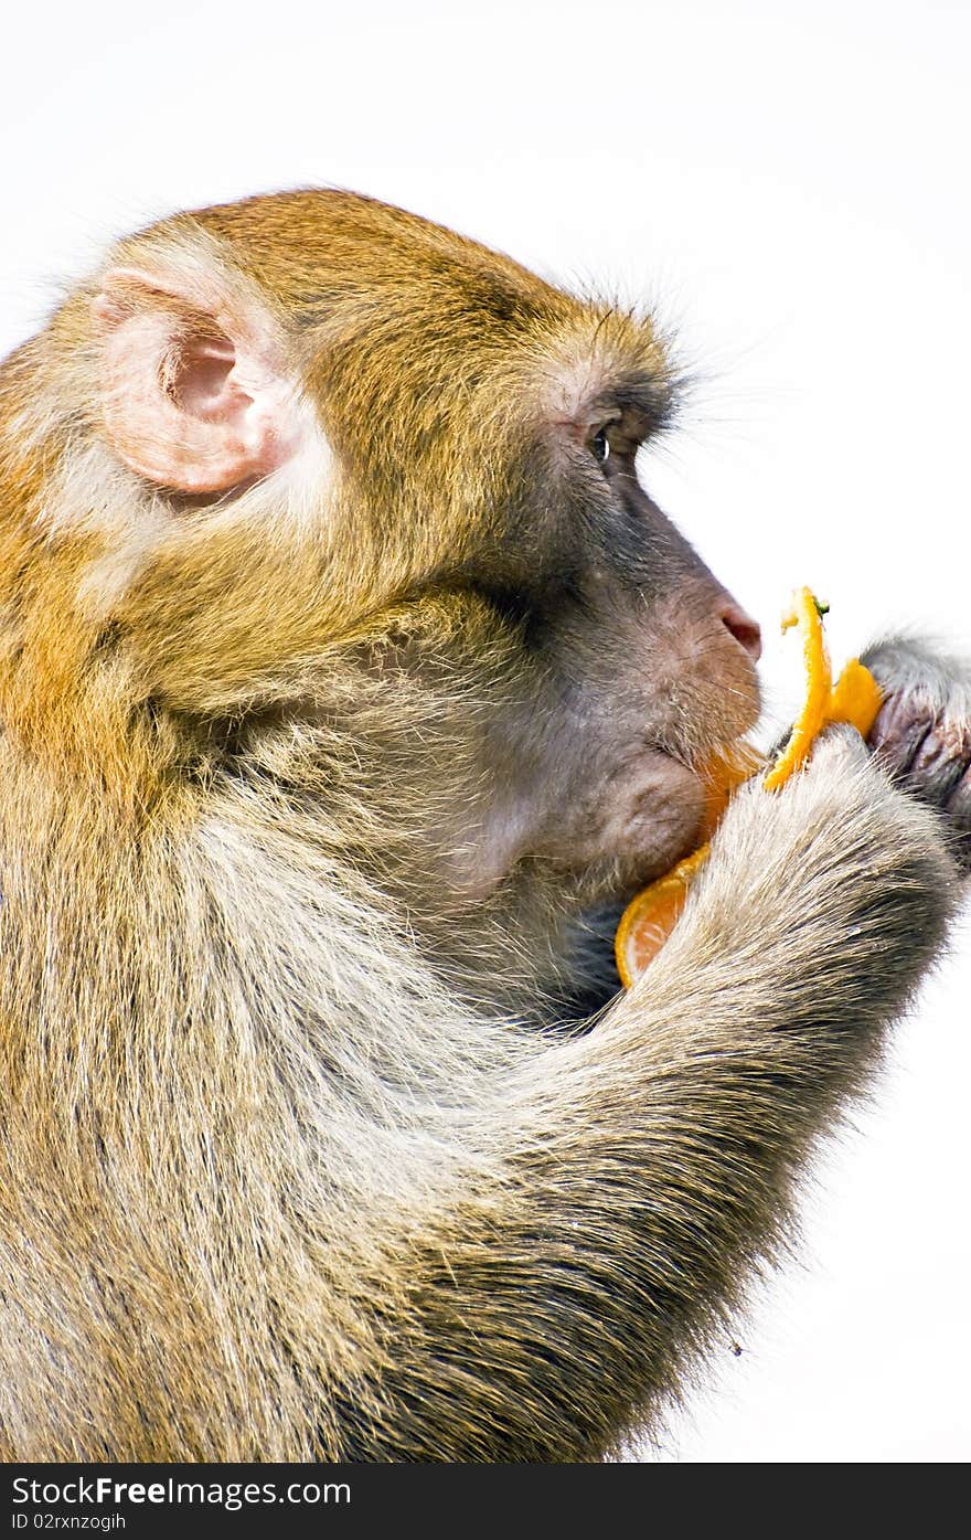
M 649 320 L 385 205 L 166 220 L 5 365 L 0 710 L 58 773 L 314 759 L 446 907 L 628 890 L 757 711 L 757 627 L 637 480 L 676 394 Z

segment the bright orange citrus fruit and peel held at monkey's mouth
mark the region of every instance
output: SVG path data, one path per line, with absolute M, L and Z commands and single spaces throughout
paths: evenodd
M 797 588 L 792 605 L 782 618 L 782 630 L 799 627 L 805 671 L 805 699 L 792 730 L 762 782 L 777 792 L 808 759 L 825 727 L 845 722 L 866 738 L 882 705 L 880 687 L 859 658 L 851 658 L 836 684 L 823 636 L 823 614 L 811 588 Z M 705 767 L 705 813 L 702 833 L 706 842 L 631 899 L 617 927 L 614 950 L 617 972 L 629 989 L 657 956 L 674 930 L 691 884 L 708 859 L 709 839 L 739 787 L 766 765 L 765 758 L 746 742 L 732 744 L 712 755 Z

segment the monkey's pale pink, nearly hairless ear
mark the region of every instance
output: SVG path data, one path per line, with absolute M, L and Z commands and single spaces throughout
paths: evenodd
M 183 493 L 228 491 L 283 465 L 305 417 L 268 317 L 205 282 L 118 266 L 92 302 L 108 439 L 131 470 Z

